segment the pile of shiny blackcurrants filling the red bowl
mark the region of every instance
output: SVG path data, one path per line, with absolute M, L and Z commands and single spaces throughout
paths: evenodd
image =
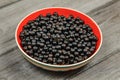
M 97 37 L 83 20 L 57 12 L 28 21 L 19 37 L 29 56 L 54 65 L 74 64 L 87 59 L 97 43 Z

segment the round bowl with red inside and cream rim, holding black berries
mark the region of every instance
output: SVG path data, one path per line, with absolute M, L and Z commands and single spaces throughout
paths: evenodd
M 24 52 L 22 46 L 20 45 L 21 40 L 19 38 L 19 35 L 20 35 L 20 32 L 22 31 L 23 26 L 25 24 L 27 24 L 27 22 L 29 20 L 34 20 L 40 14 L 45 16 L 47 13 L 52 14 L 53 12 L 58 12 L 59 15 L 64 15 L 66 17 L 68 17 L 69 15 L 72 14 L 74 17 L 80 17 L 82 20 L 84 20 L 85 24 L 90 25 L 90 27 L 93 29 L 93 33 L 97 36 L 98 41 L 96 44 L 96 50 L 89 58 L 87 58 L 86 60 L 83 60 L 81 62 L 75 63 L 75 64 L 53 65 L 53 64 L 47 64 L 47 63 L 37 61 L 34 58 L 30 57 L 26 52 Z M 91 61 L 91 59 L 97 54 L 97 52 L 99 51 L 99 49 L 101 47 L 102 32 L 101 32 L 99 26 L 96 24 L 96 22 L 92 18 L 90 18 L 89 16 L 87 16 L 86 14 L 84 14 L 80 11 L 70 9 L 70 8 L 64 8 L 64 7 L 50 7 L 50 8 L 39 9 L 39 10 L 34 11 L 34 12 L 28 14 L 27 16 L 25 16 L 20 21 L 20 23 L 18 24 L 18 26 L 16 28 L 15 39 L 16 39 L 16 43 L 17 43 L 19 49 L 22 52 L 21 54 L 25 57 L 25 59 L 27 59 L 32 64 L 34 64 L 38 67 L 41 67 L 43 69 L 52 70 L 52 71 L 68 71 L 68 70 L 80 68 Z

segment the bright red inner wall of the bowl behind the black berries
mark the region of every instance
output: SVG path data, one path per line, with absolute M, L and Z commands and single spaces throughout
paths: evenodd
M 18 25 L 18 28 L 17 28 L 17 42 L 18 42 L 18 45 L 21 47 L 21 45 L 20 45 L 21 40 L 19 38 L 19 35 L 20 35 L 20 32 L 22 31 L 23 26 L 26 25 L 29 20 L 34 20 L 40 14 L 46 15 L 47 13 L 52 14 L 53 12 L 58 12 L 59 15 L 64 15 L 66 17 L 68 17 L 69 15 L 72 14 L 74 17 L 80 17 L 82 20 L 85 21 L 86 24 L 90 25 L 90 27 L 93 29 L 94 34 L 98 38 L 95 52 L 97 51 L 97 49 L 101 45 L 102 36 L 101 36 L 101 32 L 100 32 L 98 26 L 96 25 L 96 23 L 93 20 L 91 20 L 88 16 L 86 16 L 85 14 L 83 14 L 81 12 L 78 12 L 78 11 L 71 10 L 71 9 L 66 9 L 66 8 L 46 8 L 46 9 L 42 9 L 42 10 L 38 10 L 36 12 L 33 12 L 30 15 L 28 15 L 27 17 L 25 17 L 20 22 L 20 24 Z

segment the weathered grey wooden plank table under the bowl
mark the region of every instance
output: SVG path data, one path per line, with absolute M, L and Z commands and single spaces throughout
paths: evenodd
M 103 44 L 85 67 L 68 72 L 38 68 L 21 56 L 15 42 L 20 20 L 45 7 L 68 7 L 92 17 Z M 0 80 L 120 80 L 120 0 L 0 0 Z

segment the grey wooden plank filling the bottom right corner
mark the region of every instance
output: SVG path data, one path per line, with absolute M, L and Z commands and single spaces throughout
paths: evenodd
M 81 73 L 70 80 L 119 80 L 120 79 L 120 50 L 114 53 L 114 56 L 109 57 L 101 64 Z

